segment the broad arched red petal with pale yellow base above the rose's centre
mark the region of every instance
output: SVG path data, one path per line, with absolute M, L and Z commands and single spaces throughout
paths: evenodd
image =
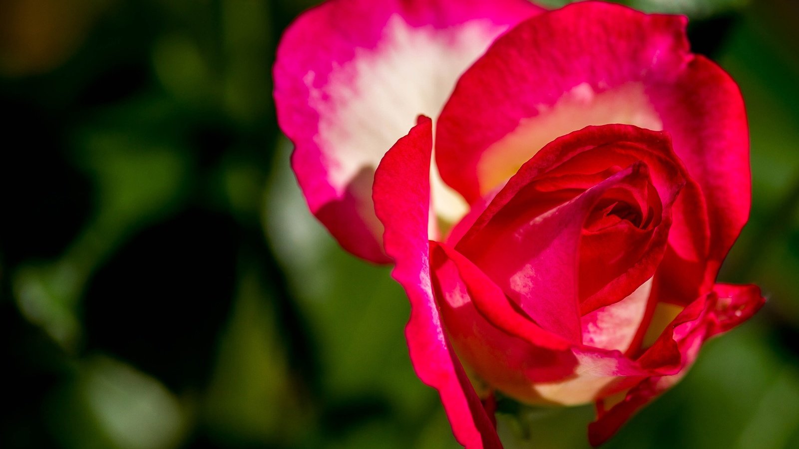
M 486 172 L 488 162 L 515 173 L 543 145 L 586 125 L 658 130 L 646 87 L 674 79 L 690 60 L 685 24 L 605 2 L 519 24 L 463 74 L 444 107 L 436 135 L 443 180 L 471 202 L 501 178 Z

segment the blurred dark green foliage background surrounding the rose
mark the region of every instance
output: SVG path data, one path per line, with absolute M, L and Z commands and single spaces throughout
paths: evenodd
M 288 169 L 270 71 L 313 3 L 0 2 L 0 447 L 458 447 L 400 287 Z M 688 14 L 741 85 L 753 212 L 721 280 L 769 302 L 606 447 L 799 447 L 799 2 L 628 3 Z M 513 408 L 519 447 L 587 447 L 591 407 Z

